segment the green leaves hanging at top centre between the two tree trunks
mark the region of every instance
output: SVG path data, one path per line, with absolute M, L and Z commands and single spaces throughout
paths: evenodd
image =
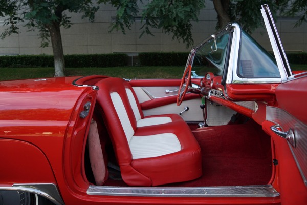
M 142 33 L 153 35 L 151 28 L 172 33 L 172 39 L 182 40 L 187 48 L 193 45 L 191 21 L 197 21 L 200 10 L 205 7 L 204 0 L 99 0 L 98 3 L 110 2 L 117 8 L 116 20 L 111 24 L 111 31 L 131 29 L 136 18 L 142 18 Z M 138 3 L 143 4 L 140 10 Z

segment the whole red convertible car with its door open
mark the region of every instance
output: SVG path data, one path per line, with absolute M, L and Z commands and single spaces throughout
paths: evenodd
M 0 204 L 307 204 L 307 73 L 261 12 L 275 58 L 230 23 L 182 79 L 0 82 Z

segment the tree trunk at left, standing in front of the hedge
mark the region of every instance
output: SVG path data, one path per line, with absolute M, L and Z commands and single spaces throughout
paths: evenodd
M 62 37 L 59 22 L 53 22 L 46 26 L 50 33 L 54 57 L 55 77 L 65 76 L 65 60 L 62 45 Z

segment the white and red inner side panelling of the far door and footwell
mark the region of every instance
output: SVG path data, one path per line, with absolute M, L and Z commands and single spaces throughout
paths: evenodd
M 198 83 L 199 79 L 195 79 Z M 203 112 L 200 108 L 202 103 L 199 94 L 187 93 L 184 101 L 177 106 L 177 94 L 180 80 L 176 79 L 148 79 L 131 80 L 130 84 L 138 97 L 144 116 L 159 114 L 179 114 L 185 107 L 189 110 L 181 114 L 185 121 L 200 122 L 204 121 Z M 178 86 L 176 86 L 178 85 Z M 216 104 L 207 103 L 207 124 L 210 126 L 226 125 L 236 112 Z

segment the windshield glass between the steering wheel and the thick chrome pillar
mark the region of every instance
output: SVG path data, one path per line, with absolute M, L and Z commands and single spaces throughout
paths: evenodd
M 196 48 L 192 70 L 203 74 L 212 72 L 222 75 L 225 66 L 229 32 L 212 37 L 206 43 Z

